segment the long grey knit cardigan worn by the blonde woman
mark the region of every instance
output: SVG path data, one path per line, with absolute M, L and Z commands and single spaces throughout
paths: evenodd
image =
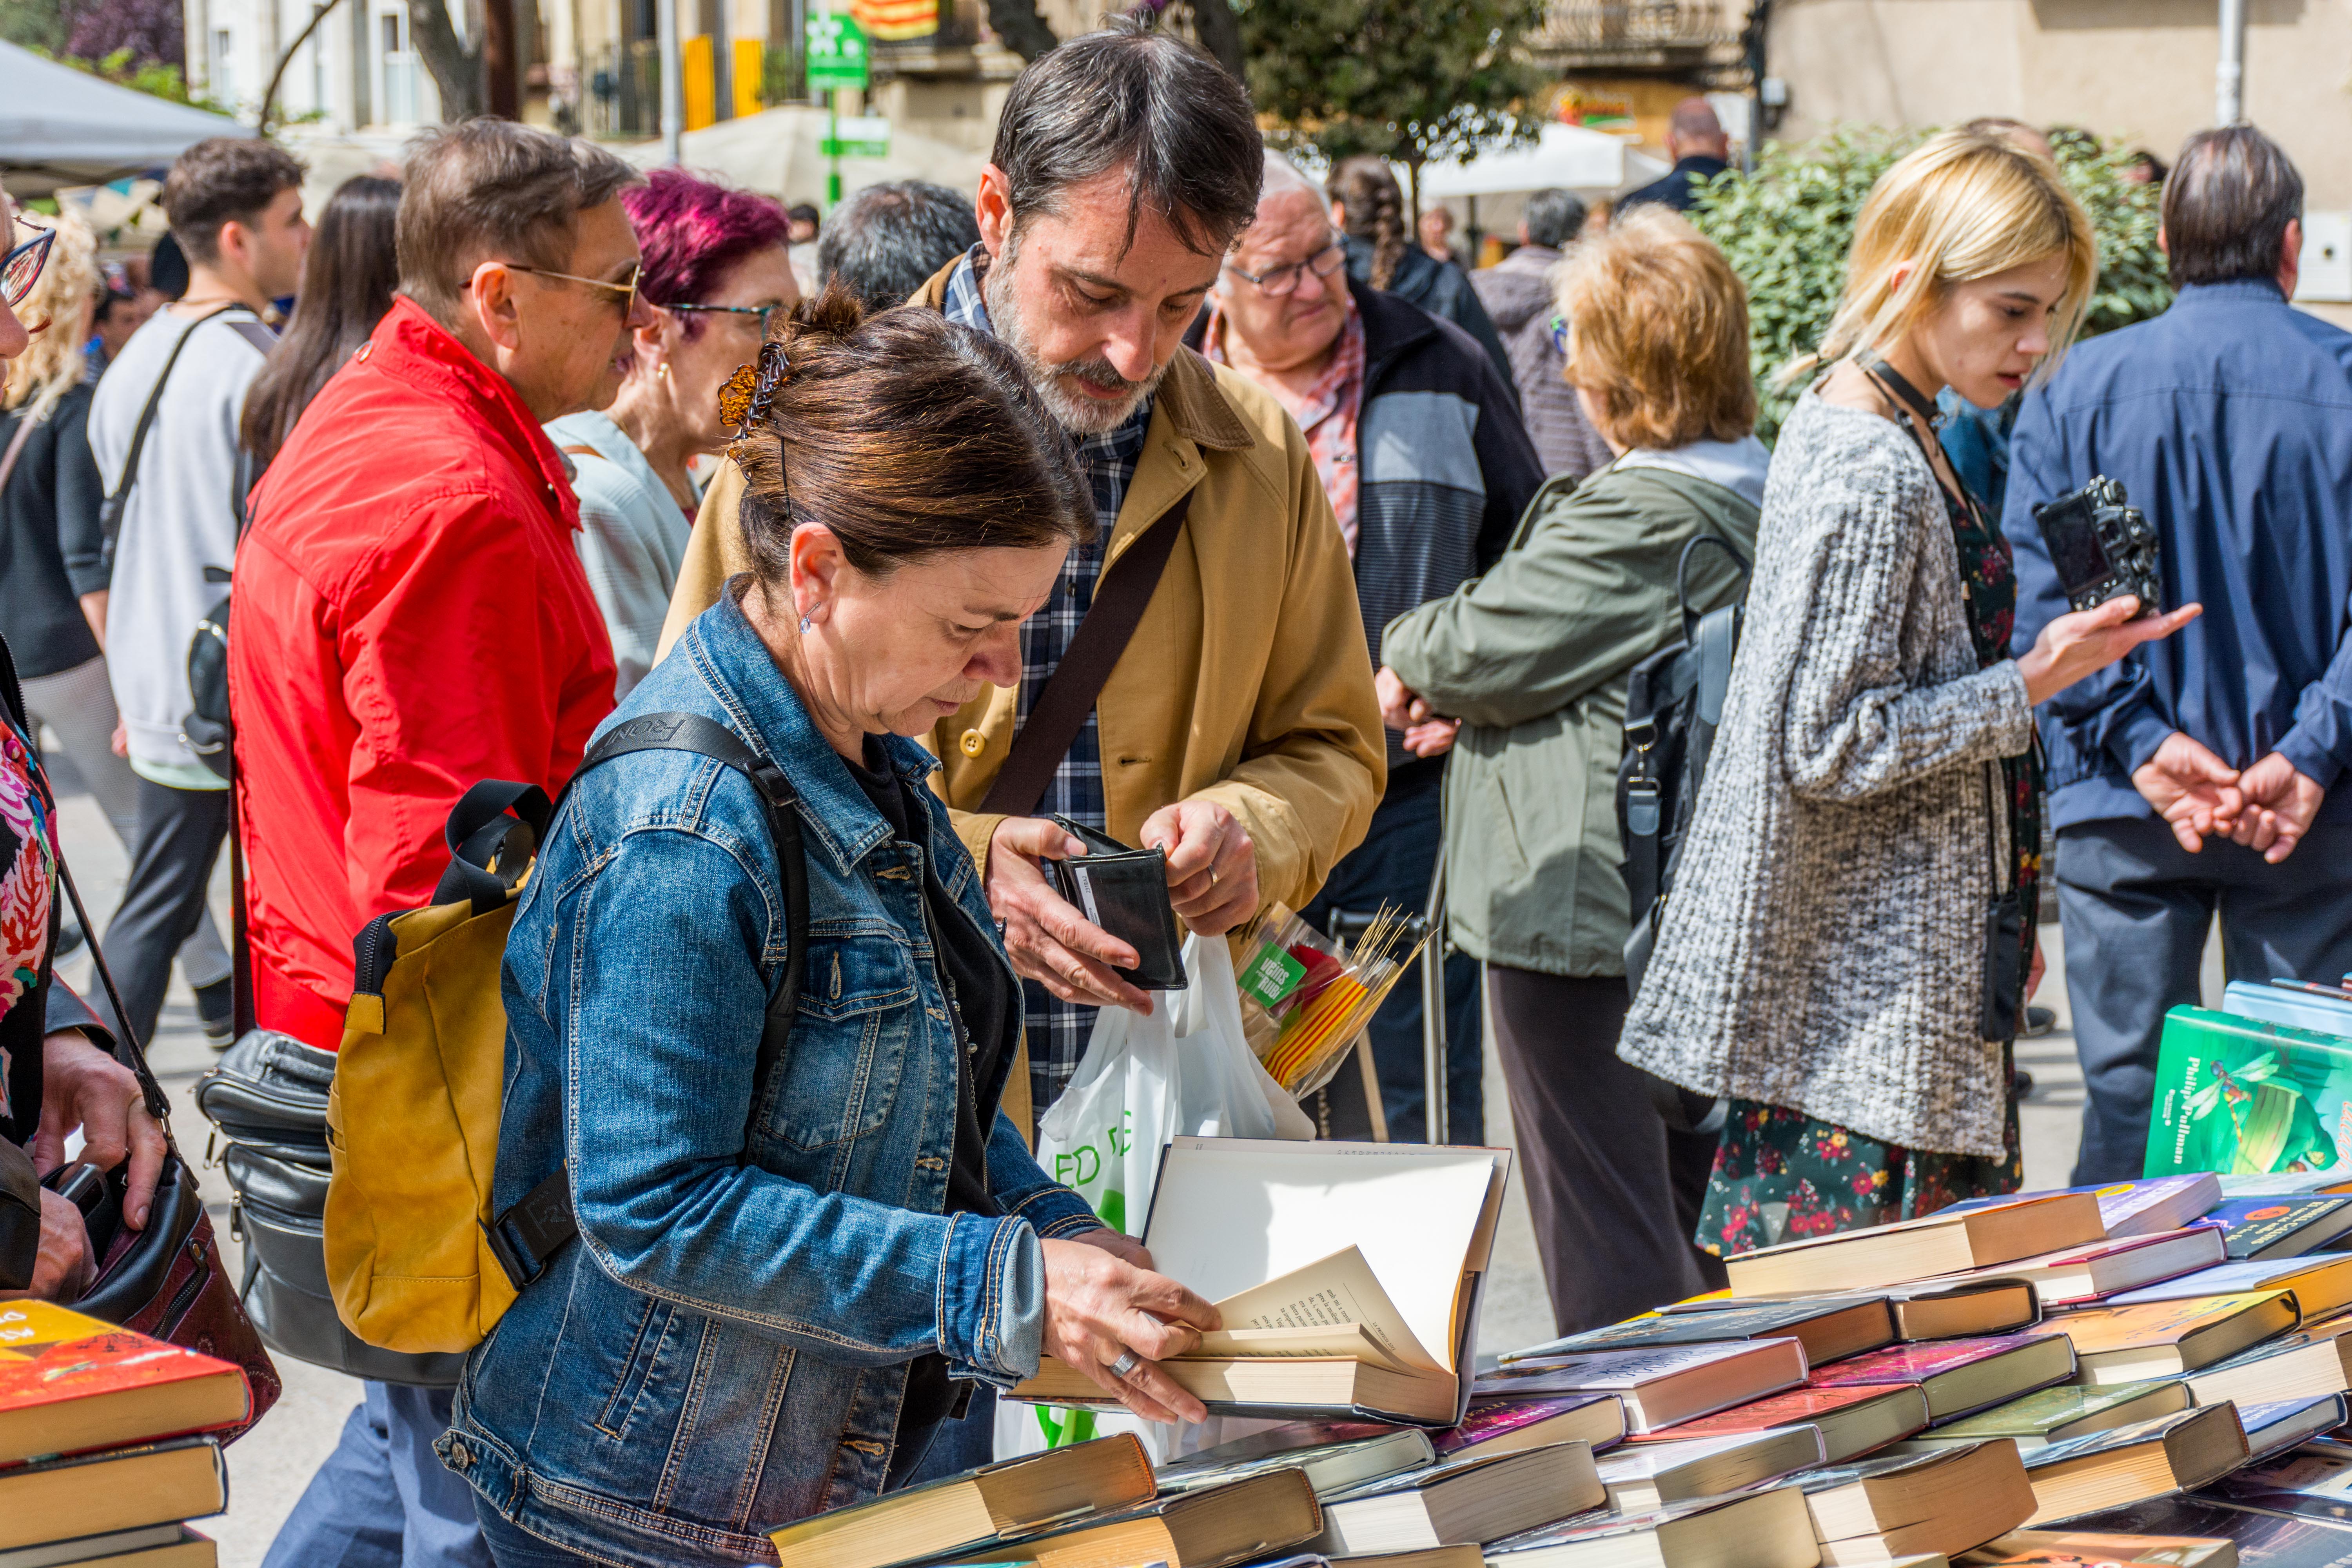
M 1886 418 L 1806 393 L 1780 430 L 1698 816 L 1618 1056 L 1884 1143 L 2002 1154 L 1978 1039 L 2013 661 L 1976 668 L 1952 524 Z

